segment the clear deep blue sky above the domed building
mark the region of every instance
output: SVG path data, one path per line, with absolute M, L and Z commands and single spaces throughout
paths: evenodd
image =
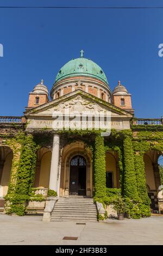
M 2 1 L 0 5 L 163 6 L 162 1 Z M 41 79 L 50 90 L 68 60 L 85 57 L 102 67 L 111 89 L 118 80 L 132 94 L 135 116 L 160 118 L 163 9 L 1 9 L 0 115 L 22 115 Z

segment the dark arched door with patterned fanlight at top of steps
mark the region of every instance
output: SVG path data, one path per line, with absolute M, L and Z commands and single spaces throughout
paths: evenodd
M 77 155 L 70 161 L 70 195 L 86 196 L 86 160 Z

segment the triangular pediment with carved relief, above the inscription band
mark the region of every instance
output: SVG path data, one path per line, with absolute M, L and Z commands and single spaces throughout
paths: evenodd
M 52 100 L 46 104 L 43 104 L 39 107 L 30 109 L 25 113 L 27 117 L 29 116 L 52 116 L 55 112 L 64 113 L 66 109 L 70 109 L 70 112 L 82 113 L 82 112 L 90 112 L 90 113 L 100 113 L 103 111 L 110 111 L 112 116 L 117 117 L 133 117 L 131 113 L 128 111 L 124 111 L 121 108 L 118 108 L 108 102 L 104 102 L 103 100 L 98 99 L 95 96 L 87 94 L 85 92 L 74 92 L 69 94 L 69 97 L 60 97 L 57 100 Z

